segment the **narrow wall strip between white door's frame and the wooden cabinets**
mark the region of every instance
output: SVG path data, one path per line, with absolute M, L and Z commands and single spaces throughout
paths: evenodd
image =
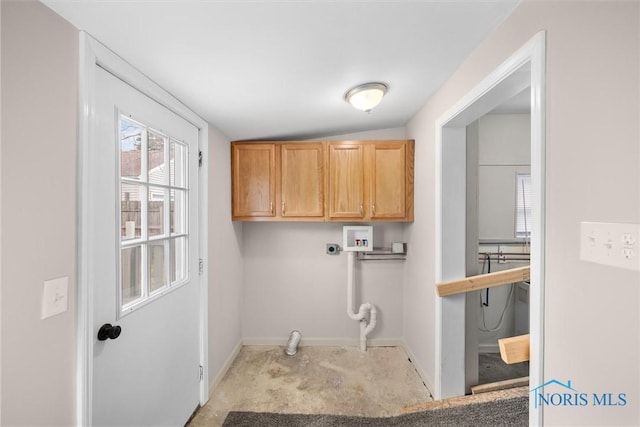
M 231 222 L 228 138 L 209 127 L 209 383 L 221 379 L 242 340 L 242 225 Z

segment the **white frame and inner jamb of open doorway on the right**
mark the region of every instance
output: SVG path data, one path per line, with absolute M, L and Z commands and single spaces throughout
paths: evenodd
M 436 122 L 435 282 L 465 277 L 466 126 L 531 88 L 532 233 L 530 382 L 544 381 L 545 65 L 541 31 Z M 465 295 L 436 298 L 434 397 L 465 392 Z M 529 424 L 542 425 L 542 406 L 529 405 Z

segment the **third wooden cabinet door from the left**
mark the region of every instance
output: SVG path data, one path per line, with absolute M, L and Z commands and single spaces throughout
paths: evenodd
M 364 146 L 329 144 L 329 217 L 362 219 Z

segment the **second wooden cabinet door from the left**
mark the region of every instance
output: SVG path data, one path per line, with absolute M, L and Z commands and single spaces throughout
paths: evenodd
M 282 144 L 281 215 L 304 219 L 324 217 L 324 145 Z

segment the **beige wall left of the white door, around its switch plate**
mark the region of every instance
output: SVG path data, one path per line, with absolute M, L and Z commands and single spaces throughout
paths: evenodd
M 78 35 L 37 2 L 2 2 L 2 425 L 75 421 Z M 69 310 L 40 319 L 42 282 Z

